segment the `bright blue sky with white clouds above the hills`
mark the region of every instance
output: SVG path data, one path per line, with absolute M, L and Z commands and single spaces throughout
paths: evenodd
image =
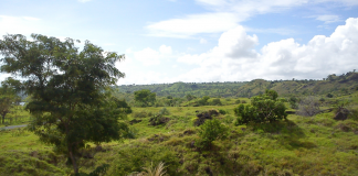
M 0 0 L 0 40 L 31 33 L 125 54 L 117 85 L 323 79 L 358 69 L 357 0 Z

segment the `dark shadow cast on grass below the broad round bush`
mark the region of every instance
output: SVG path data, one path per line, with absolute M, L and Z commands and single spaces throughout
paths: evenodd
M 285 146 L 287 150 L 296 150 L 299 147 L 313 148 L 316 145 L 305 140 L 304 131 L 293 121 L 283 120 L 274 123 L 249 124 L 253 131 L 276 140 L 277 144 Z

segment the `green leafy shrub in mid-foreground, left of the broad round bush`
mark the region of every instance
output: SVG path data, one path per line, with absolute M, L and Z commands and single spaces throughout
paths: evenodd
M 228 128 L 224 124 L 213 118 L 212 120 L 207 120 L 199 129 L 199 138 L 196 145 L 200 148 L 210 148 L 211 143 L 218 139 L 224 139 L 228 134 Z

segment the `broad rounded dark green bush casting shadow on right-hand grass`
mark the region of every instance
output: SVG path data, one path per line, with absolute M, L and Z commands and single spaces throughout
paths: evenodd
M 266 94 L 253 97 L 251 105 L 240 105 L 234 109 L 238 116 L 236 125 L 274 122 L 286 119 L 286 107 L 282 99 L 277 99 L 274 90 L 266 90 Z

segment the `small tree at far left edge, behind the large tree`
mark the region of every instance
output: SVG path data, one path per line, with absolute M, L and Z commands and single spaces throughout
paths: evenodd
M 14 86 L 19 85 L 18 81 L 12 78 L 1 82 L 0 87 L 0 116 L 1 123 L 4 124 L 4 118 L 10 112 L 10 109 L 20 102 L 21 98 L 17 95 L 17 88 Z

